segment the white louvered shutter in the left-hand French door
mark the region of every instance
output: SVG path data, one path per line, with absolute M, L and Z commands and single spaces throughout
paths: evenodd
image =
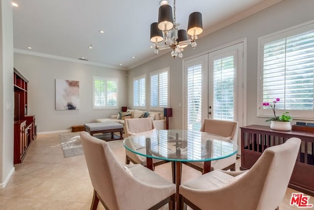
M 187 129 L 200 131 L 202 118 L 202 64 L 187 68 Z

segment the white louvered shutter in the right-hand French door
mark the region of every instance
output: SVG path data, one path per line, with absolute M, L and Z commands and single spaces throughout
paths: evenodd
M 213 119 L 234 120 L 234 56 L 213 61 Z

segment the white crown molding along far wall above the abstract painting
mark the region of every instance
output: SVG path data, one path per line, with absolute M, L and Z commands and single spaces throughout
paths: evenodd
M 38 53 L 34 51 L 26 51 L 26 50 L 21 50 L 21 49 L 13 49 L 14 53 L 21 53 L 21 54 L 29 54 L 29 55 L 35 55 L 35 56 L 40 56 L 40 57 L 46 57 L 46 58 L 52 58 L 52 59 L 57 59 L 57 60 L 64 60 L 64 61 L 70 61 L 70 62 L 75 62 L 75 63 L 83 63 L 87 65 L 93 65 L 93 66 L 101 66 L 101 67 L 107 67 L 107 68 L 112 68 L 112 69 L 119 69 L 119 70 L 127 70 L 127 68 L 124 67 L 119 67 L 119 66 L 111 66 L 107 65 L 104 63 L 96 63 L 96 62 L 91 62 L 88 60 L 78 60 L 70 57 L 63 57 L 63 56 L 58 56 L 58 55 L 52 55 L 52 54 L 46 54 L 46 53 Z

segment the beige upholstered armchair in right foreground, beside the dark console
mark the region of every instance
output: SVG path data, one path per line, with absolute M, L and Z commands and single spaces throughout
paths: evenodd
M 275 210 L 282 202 L 301 140 L 268 147 L 247 171 L 214 170 L 180 185 L 181 206 L 194 210 Z

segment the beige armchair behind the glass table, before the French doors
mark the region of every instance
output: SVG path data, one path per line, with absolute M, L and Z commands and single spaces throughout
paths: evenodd
M 200 131 L 229 138 L 230 140 L 233 140 L 235 144 L 237 144 L 237 130 L 238 123 L 235 121 L 205 119 Z M 231 171 L 235 171 L 235 160 L 236 154 L 231 157 L 212 160 L 210 162 L 210 170 L 212 171 L 214 169 L 231 169 Z M 203 173 L 204 162 L 183 162 L 183 164 L 188 165 Z

